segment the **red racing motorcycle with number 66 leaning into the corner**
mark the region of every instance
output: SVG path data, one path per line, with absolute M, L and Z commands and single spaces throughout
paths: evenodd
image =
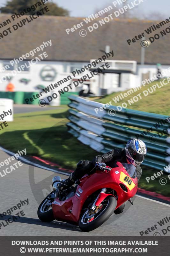
M 38 208 L 40 220 L 59 220 L 78 225 L 89 232 L 100 227 L 112 213 L 137 193 L 137 172 L 132 164 L 103 167 L 85 175 L 70 188 L 60 191 L 60 176 L 53 178 L 53 191 Z

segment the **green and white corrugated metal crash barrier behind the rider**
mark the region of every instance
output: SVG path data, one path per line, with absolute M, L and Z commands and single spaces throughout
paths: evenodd
M 104 104 L 76 96 L 69 99 L 68 132 L 82 143 L 105 153 L 113 148 L 125 148 L 129 138 L 138 138 L 147 146 L 143 164 L 170 172 L 170 168 L 164 169 L 170 163 L 169 116 L 131 109 L 119 112 L 115 106 L 95 111 Z

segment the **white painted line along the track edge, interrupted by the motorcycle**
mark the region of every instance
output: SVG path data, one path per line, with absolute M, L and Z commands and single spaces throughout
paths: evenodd
M 5 148 L 0 147 L 0 149 L 3 150 L 3 151 L 6 152 L 6 153 L 12 155 L 12 156 L 15 155 L 15 153 L 13 153 L 13 152 L 11 152 L 11 151 L 5 149 Z M 35 166 L 35 167 L 38 167 L 38 168 L 41 168 L 41 169 L 44 169 L 44 170 L 47 170 L 47 171 L 56 172 L 56 173 L 60 173 L 60 174 L 66 175 L 66 176 L 70 176 L 70 174 L 68 174 L 68 173 L 61 172 L 61 171 L 56 171 L 56 170 L 54 170 L 54 169 L 48 168 L 48 167 L 46 167 L 46 166 L 43 166 L 43 165 L 41 165 L 41 164 L 35 164 L 35 163 L 33 163 L 33 162 L 31 162 L 31 161 L 25 159 L 25 158 L 22 157 L 22 156 L 19 156 L 18 159 L 20 159 L 21 161 L 23 161 L 23 162 L 26 163 L 26 164 L 32 164 L 32 165 Z M 162 202 L 159 202 L 159 201 L 156 201 L 156 200 L 147 198 L 147 197 L 145 197 L 145 196 L 139 196 L 139 195 L 136 195 L 136 196 L 141 197 L 141 198 L 146 199 L 146 200 L 149 200 L 149 201 L 152 201 L 152 202 L 157 203 L 157 204 L 163 204 L 163 205 L 165 205 L 165 206 L 170 207 L 170 204 L 165 204 L 165 203 L 162 203 Z

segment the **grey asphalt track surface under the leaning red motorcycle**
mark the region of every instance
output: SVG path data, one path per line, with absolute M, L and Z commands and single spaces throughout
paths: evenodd
M 8 157 L 10 155 L 0 150 L 0 162 Z M 16 162 L 17 160 L 13 160 L 12 164 Z M 0 172 L 4 167 L 0 167 Z M 84 233 L 78 227 L 64 222 L 43 223 L 38 219 L 37 209 L 45 195 L 51 192 L 51 181 L 55 175 L 55 172 L 23 163 L 23 166 L 0 177 L 1 214 L 18 204 L 20 200 L 24 201 L 27 198 L 29 200 L 28 205 L 23 205 L 20 210 L 11 213 L 11 216 L 14 216 L 19 211 L 23 211 L 25 216 L 5 227 L 2 225 L 0 236 L 140 236 L 139 232 L 156 224 L 157 229 L 147 236 L 153 236 L 155 232 L 159 232 L 162 236 L 161 230 L 168 226 L 167 223 L 160 227 L 157 221 L 170 216 L 169 205 L 138 196 L 133 199 L 133 206 L 129 202 L 126 203 L 123 214 L 113 214 L 105 224 L 90 233 Z M 67 178 L 66 175 L 60 176 L 63 179 Z M 0 224 L 2 222 L 6 224 L 5 219 L 9 217 L 7 215 L 0 217 Z M 170 232 L 167 232 L 167 236 L 168 233 Z

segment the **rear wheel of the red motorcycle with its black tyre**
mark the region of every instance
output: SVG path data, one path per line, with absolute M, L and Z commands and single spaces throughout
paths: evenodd
M 55 193 L 55 191 L 52 191 L 49 195 L 54 194 L 54 193 Z M 53 201 L 47 199 L 48 196 L 46 196 L 46 198 L 44 198 L 44 200 L 41 202 L 41 204 L 37 210 L 38 218 L 43 222 L 51 222 L 51 221 L 55 220 L 54 215 L 53 215 L 53 209 L 52 209 Z

